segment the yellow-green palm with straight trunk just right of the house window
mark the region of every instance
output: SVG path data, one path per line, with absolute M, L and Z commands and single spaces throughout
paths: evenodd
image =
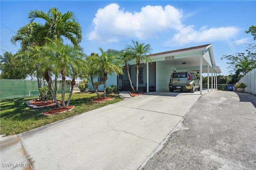
M 118 53 L 111 51 L 108 49 L 108 51 L 104 52 L 102 48 L 100 48 L 100 52 L 102 55 L 100 57 L 96 57 L 96 65 L 97 70 L 102 71 L 104 75 L 104 98 L 106 97 L 106 82 L 108 79 L 108 74 L 112 75 L 114 74 L 123 74 L 122 70 L 122 60 L 118 57 Z

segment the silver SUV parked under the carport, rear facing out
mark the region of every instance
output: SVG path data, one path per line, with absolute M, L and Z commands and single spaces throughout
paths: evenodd
M 170 92 L 174 90 L 190 90 L 191 93 L 194 93 L 195 89 L 200 91 L 200 80 L 195 73 L 188 71 L 172 73 L 169 83 Z

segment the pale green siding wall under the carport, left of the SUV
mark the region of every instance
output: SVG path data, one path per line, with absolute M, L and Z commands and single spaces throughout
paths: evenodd
M 162 62 L 156 62 L 156 91 L 169 90 L 170 76 L 176 68 Z

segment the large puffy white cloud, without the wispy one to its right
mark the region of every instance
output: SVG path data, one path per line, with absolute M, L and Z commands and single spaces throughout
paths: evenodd
M 120 38 L 136 37 L 140 40 L 157 38 L 157 33 L 169 28 L 180 30 L 182 10 L 173 6 L 145 6 L 140 12 L 124 12 L 118 4 L 110 4 L 95 14 L 94 30 L 88 40 L 117 42 Z

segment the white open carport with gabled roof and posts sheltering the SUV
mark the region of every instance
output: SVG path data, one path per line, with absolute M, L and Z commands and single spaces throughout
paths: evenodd
M 202 80 L 202 73 L 207 73 L 208 91 L 211 74 L 212 89 L 217 87 L 217 73 L 221 73 L 221 70 L 220 67 L 216 66 L 212 44 L 155 53 L 148 56 L 155 65 L 156 91 L 168 90 L 170 75 L 176 71 L 200 73 L 200 80 Z M 150 63 L 146 63 L 147 92 L 149 92 L 150 77 L 152 77 L 149 65 Z M 200 81 L 200 87 L 202 87 L 202 81 Z M 202 95 L 202 88 L 200 88 L 200 94 Z

